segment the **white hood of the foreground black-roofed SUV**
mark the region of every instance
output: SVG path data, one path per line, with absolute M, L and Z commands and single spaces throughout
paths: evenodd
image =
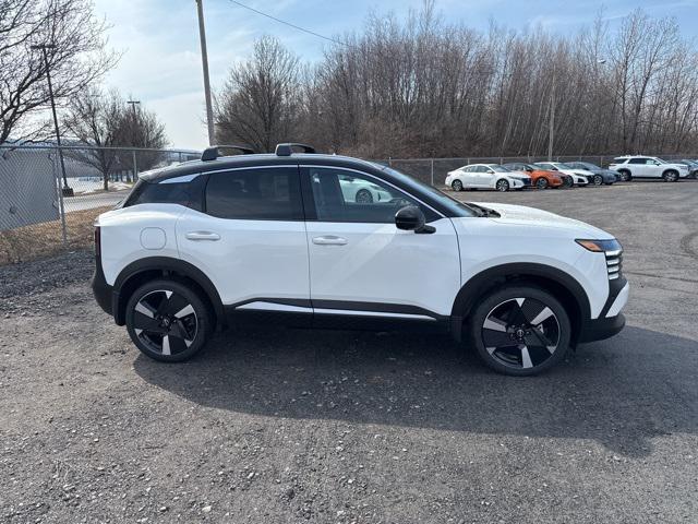
M 599 229 L 586 222 L 567 218 L 543 210 L 527 207 L 524 205 L 484 203 L 478 205 L 490 207 L 500 213 L 501 216 L 491 218 L 501 224 L 520 225 L 533 228 L 553 229 L 557 233 L 569 231 L 574 238 L 588 238 L 593 240 L 605 240 L 614 238 L 603 229 Z

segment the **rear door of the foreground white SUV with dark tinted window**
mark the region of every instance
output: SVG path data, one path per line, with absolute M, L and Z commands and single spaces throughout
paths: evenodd
M 203 211 L 177 224 L 180 257 L 213 282 L 224 305 L 310 315 L 308 240 L 298 166 L 208 177 Z

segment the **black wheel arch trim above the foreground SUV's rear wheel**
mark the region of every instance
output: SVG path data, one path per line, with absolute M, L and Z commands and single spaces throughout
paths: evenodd
M 226 324 L 226 313 L 220 295 L 218 294 L 216 286 L 214 286 L 213 282 L 210 282 L 203 271 L 192 263 L 185 262 L 181 259 L 173 259 L 171 257 L 148 257 L 136 260 L 135 262 L 127 265 L 121 270 L 115 281 L 111 297 L 111 311 L 118 325 L 123 325 L 125 323 L 123 306 L 125 300 L 128 300 L 128 297 L 121 296 L 121 290 L 123 289 L 124 284 L 139 274 L 148 271 L 171 272 L 194 281 L 204 290 L 206 298 L 210 301 L 216 314 L 216 320 L 220 325 Z

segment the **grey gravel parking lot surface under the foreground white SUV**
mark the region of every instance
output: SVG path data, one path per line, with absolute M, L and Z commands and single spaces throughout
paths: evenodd
M 698 181 L 461 192 L 615 234 L 627 327 L 537 378 L 447 337 L 139 354 L 89 253 L 0 267 L 0 521 L 698 522 Z

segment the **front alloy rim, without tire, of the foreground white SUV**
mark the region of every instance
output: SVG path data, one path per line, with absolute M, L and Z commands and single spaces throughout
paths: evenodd
M 486 352 L 500 364 L 530 369 L 552 358 L 561 327 L 553 310 L 534 298 L 512 298 L 494 307 L 482 325 Z

